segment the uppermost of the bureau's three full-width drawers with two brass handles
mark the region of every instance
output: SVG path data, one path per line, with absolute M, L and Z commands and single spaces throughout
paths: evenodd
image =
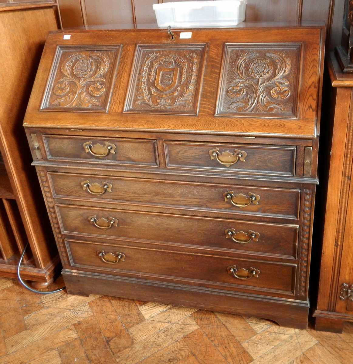
M 300 190 L 48 173 L 54 197 L 298 218 Z M 104 187 L 106 186 L 106 188 Z M 92 194 L 91 192 L 98 193 Z M 233 202 L 233 203 L 232 203 Z M 235 203 L 235 205 L 234 205 Z

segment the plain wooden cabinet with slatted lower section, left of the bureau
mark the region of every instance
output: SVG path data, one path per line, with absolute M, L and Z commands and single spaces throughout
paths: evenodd
M 31 1 L 0 6 L 0 275 L 47 285 L 60 260 L 45 205 L 31 167 L 23 117 L 48 31 L 58 28 L 56 3 Z

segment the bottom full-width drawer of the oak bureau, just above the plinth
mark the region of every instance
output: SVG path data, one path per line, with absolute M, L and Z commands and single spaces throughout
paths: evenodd
M 294 264 L 222 257 L 211 253 L 195 254 L 175 250 L 168 245 L 146 247 L 66 240 L 66 247 L 70 264 L 78 268 L 98 268 L 110 274 L 136 273 L 141 279 L 169 278 L 182 284 L 218 286 L 226 290 L 245 286 L 257 288 L 262 293 L 294 293 Z M 239 279 L 234 274 L 250 278 Z

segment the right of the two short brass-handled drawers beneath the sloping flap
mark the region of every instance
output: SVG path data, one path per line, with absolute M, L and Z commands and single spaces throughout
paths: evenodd
M 293 176 L 295 146 L 208 144 L 165 141 L 170 168 Z

